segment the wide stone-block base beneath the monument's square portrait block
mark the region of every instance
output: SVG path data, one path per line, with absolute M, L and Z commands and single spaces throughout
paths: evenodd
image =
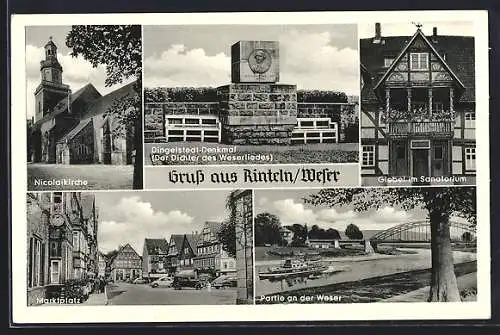
M 222 141 L 290 144 L 297 123 L 297 88 L 283 84 L 230 84 L 217 90 Z

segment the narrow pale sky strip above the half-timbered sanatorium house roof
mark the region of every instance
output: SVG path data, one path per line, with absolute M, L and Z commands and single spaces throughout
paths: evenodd
M 417 22 L 416 22 L 417 23 Z M 432 35 L 432 28 L 436 27 L 438 35 L 459 35 L 474 36 L 474 24 L 472 22 L 461 21 L 441 21 L 426 22 L 419 21 L 422 24 L 421 30 L 426 35 Z M 417 27 L 412 22 L 404 23 L 384 23 L 380 22 L 382 36 L 412 36 Z M 371 38 L 375 36 L 375 21 L 371 24 L 359 25 L 359 38 Z

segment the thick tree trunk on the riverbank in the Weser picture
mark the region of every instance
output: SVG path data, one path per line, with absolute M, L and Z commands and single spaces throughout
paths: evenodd
M 431 290 L 427 301 L 461 301 L 453 266 L 450 218 L 437 209 L 430 213 Z

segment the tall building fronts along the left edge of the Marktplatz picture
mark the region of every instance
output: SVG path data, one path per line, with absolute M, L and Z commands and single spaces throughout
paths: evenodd
M 98 209 L 93 195 L 28 193 L 26 210 L 28 305 L 45 297 L 47 285 L 97 275 Z

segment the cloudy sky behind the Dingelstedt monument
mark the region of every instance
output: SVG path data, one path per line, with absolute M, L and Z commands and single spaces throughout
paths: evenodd
M 146 87 L 226 85 L 232 44 L 272 40 L 280 83 L 359 95 L 356 25 L 145 26 L 143 38 Z

